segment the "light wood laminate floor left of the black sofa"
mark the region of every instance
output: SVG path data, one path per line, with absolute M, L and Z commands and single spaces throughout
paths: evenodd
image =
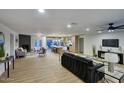
M 10 78 L 3 74 L 0 82 L 11 83 L 82 83 L 83 81 L 61 66 L 59 55 L 48 53 L 45 57 L 32 55 L 15 60 L 10 68 Z

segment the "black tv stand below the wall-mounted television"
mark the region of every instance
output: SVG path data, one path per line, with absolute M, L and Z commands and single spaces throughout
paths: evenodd
M 124 63 L 123 63 L 123 53 L 117 53 L 117 52 L 99 50 L 99 51 L 98 51 L 98 57 L 104 59 L 104 57 L 103 57 L 102 55 L 104 55 L 105 53 L 115 53 L 115 54 L 118 54 L 118 56 L 119 56 L 119 58 L 120 58 L 120 61 L 119 61 L 118 63 L 119 63 L 119 64 L 124 64 Z

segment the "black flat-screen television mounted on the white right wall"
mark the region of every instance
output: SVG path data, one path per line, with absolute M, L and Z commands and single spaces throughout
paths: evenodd
M 103 47 L 119 47 L 119 39 L 103 39 Z

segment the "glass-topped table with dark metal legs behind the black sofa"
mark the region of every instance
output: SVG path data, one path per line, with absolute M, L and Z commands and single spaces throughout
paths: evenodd
M 124 72 L 123 71 L 119 71 L 119 70 L 115 69 L 114 72 L 111 73 L 111 72 L 108 71 L 108 66 L 103 66 L 103 67 L 97 69 L 97 71 L 101 72 L 101 73 L 104 73 L 105 75 L 110 76 L 114 79 L 119 80 L 119 83 L 121 83 L 122 80 L 124 79 Z M 104 79 L 107 81 L 105 76 L 104 76 Z

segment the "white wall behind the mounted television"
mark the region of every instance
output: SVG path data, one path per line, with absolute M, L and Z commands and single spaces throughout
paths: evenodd
M 102 39 L 119 39 L 119 46 L 122 47 L 122 52 L 124 53 L 124 32 L 114 32 L 106 34 L 96 34 L 96 35 L 83 35 L 80 36 L 84 38 L 84 54 L 92 55 L 92 47 L 96 46 L 96 51 L 100 49 L 102 45 Z M 103 47 L 103 50 L 108 50 L 108 47 Z M 110 48 L 109 48 L 110 49 Z M 111 48 L 113 52 L 119 52 L 118 48 Z

